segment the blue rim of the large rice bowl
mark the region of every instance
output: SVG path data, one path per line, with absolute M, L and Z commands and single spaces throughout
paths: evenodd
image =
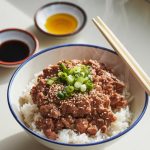
M 22 121 L 20 121 L 15 112 L 13 111 L 12 107 L 11 107 L 11 100 L 10 100 L 10 96 L 9 96 L 9 91 L 11 89 L 11 85 L 13 83 L 13 80 L 16 76 L 16 74 L 18 73 L 18 71 L 26 64 L 28 63 L 30 60 L 32 60 L 33 58 L 37 57 L 38 55 L 42 54 L 42 53 L 45 53 L 47 51 L 51 51 L 51 50 L 55 50 L 57 48 L 62 48 L 62 47 L 71 47 L 71 46 L 83 46 L 83 47 L 91 47 L 91 48 L 98 48 L 98 49 L 102 49 L 104 51 L 108 51 L 110 53 L 113 53 L 115 55 L 117 55 L 114 51 L 110 50 L 110 49 L 107 49 L 107 48 L 104 48 L 104 47 L 101 47 L 101 46 L 96 46 L 96 45 L 90 45 L 90 44 L 65 44 L 65 45 L 59 45 L 59 46 L 54 46 L 54 47 L 51 47 L 51 48 L 47 48 L 45 50 L 42 50 L 36 54 L 34 54 L 33 56 L 31 56 L 30 58 L 28 58 L 23 64 L 21 64 L 17 70 L 14 72 L 14 74 L 12 75 L 11 79 L 10 79 L 10 82 L 9 82 L 9 85 L 8 85 L 8 89 L 7 89 L 7 102 L 8 102 L 8 106 L 9 106 L 9 109 L 12 113 L 12 115 L 14 116 L 14 118 L 16 119 L 16 121 L 21 125 L 22 128 L 24 128 L 26 131 L 28 131 L 29 133 L 31 133 L 32 135 L 34 135 L 35 137 L 38 137 L 39 139 L 41 140 L 44 140 L 44 141 L 47 141 L 49 143 L 53 143 L 53 144 L 58 144 L 58 145 L 63 145 L 63 146 L 75 146 L 75 147 L 79 147 L 79 146 L 92 146 L 92 145 L 98 145 L 98 144 L 103 144 L 103 143 L 107 143 L 109 141 L 112 141 L 114 139 L 117 139 L 119 138 L 120 136 L 124 135 L 125 133 L 128 133 L 132 128 L 134 128 L 138 122 L 142 119 L 143 115 L 145 114 L 145 111 L 147 109 L 147 105 L 148 105 L 148 95 L 147 93 L 145 93 L 145 104 L 144 104 L 144 108 L 141 112 L 141 114 L 139 115 L 139 117 L 134 121 L 134 123 L 129 127 L 127 128 L 126 130 L 124 130 L 123 132 L 120 132 L 118 133 L 117 135 L 115 136 L 112 136 L 108 139 L 105 139 L 105 140 L 102 140 L 102 141 L 99 141 L 99 142 L 93 142 L 93 143 L 87 143 L 87 144 L 67 144 L 67 143 L 63 143 L 63 142 L 57 142 L 57 141 L 54 141 L 54 140 L 50 140 L 48 138 L 45 138 L 45 137 L 42 137 L 40 136 L 39 134 L 33 132 L 31 129 L 27 128 L 23 123 Z

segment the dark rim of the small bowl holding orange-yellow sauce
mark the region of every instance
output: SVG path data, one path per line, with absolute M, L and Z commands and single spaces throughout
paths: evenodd
M 38 25 L 38 23 L 37 23 L 37 20 L 36 20 L 38 12 L 41 11 L 42 9 L 44 9 L 44 8 L 47 7 L 47 6 L 60 5 L 60 4 L 75 7 L 75 8 L 77 8 L 77 9 L 82 13 L 82 15 L 83 15 L 83 24 L 79 27 L 79 29 L 77 29 L 76 31 L 74 31 L 74 32 L 72 32 L 72 33 L 67 33 L 67 34 L 52 34 L 52 33 L 49 33 L 49 32 L 44 31 L 43 29 L 41 29 L 41 28 L 39 27 L 39 25 Z M 50 36 L 54 36 L 54 37 L 66 37 L 66 36 L 75 35 L 75 34 L 77 34 L 78 32 L 80 32 L 80 31 L 83 29 L 83 27 L 85 26 L 86 22 L 87 22 L 87 15 L 86 15 L 85 11 L 84 11 L 80 6 L 78 6 L 78 5 L 74 4 L 74 3 L 70 3 L 70 2 L 52 2 L 52 3 L 48 3 L 48 4 L 46 4 L 46 5 L 42 6 L 42 7 L 40 7 L 40 8 L 36 11 L 36 13 L 35 13 L 35 15 L 34 15 L 34 24 L 35 24 L 35 26 L 36 26 L 40 31 L 42 31 L 43 33 L 45 33 L 45 34 L 47 34 L 47 35 L 50 35 Z

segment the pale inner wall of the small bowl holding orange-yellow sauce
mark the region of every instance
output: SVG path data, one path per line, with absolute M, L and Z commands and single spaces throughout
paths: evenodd
M 85 14 L 78 6 L 70 3 L 51 3 L 40 8 L 35 16 L 38 27 L 44 32 L 48 32 L 45 28 L 45 22 L 49 16 L 59 13 L 66 13 L 74 16 L 77 19 L 78 25 L 75 30 L 79 30 L 85 22 Z

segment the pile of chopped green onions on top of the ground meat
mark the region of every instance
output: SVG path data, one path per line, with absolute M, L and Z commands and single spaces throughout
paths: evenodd
M 74 92 L 86 92 L 93 89 L 93 82 L 91 76 L 91 67 L 86 65 L 76 65 L 73 68 L 67 68 L 65 64 L 60 64 L 58 77 L 50 79 L 49 84 L 55 81 L 64 83 L 63 91 L 57 93 L 58 98 L 65 99 L 70 97 Z

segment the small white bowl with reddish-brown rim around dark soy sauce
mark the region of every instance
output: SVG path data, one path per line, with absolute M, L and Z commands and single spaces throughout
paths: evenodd
M 9 28 L 0 31 L 0 41 L 1 43 L 7 41 L 21 41 L 25 43 L 29 48 L 29 55 L 21 59 L 19 61 L 2 61 L 0 60 L 0 66 L 6 68 L 18 67 L 21 63 L 23 63 L 28 57 L 34 54 L 34 52 L 39 48 L 39 42 L 37 38 L 29 33 L 28 31 L 17 29 L 17 28 Z M 13 50 L 13 49 L 12 49 Z

